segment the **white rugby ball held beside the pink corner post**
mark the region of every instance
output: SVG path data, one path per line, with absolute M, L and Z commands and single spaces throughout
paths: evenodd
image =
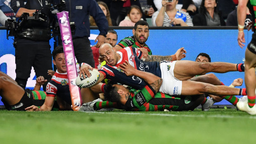
M 97 83 L 97 81 L 100 78 L 100 72 L 95 69 L 93 69 L 92 71 L 89 69 L 89 72 L 91 74 L 90 78 L 88 78 L 86 75 L 85 75 L 85 78 L 83 77 L 83 75 L 80 78 L 80 75 L 78 74 L 76 78 L 76 85 L 78 87 L 81 87 L 81 88 L 92 87 Z

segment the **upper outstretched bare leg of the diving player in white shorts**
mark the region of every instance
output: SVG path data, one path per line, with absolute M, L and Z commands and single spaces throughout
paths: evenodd
M 182 60 L 176 61 L 173 72 L 178 80 L 188 80 L 196 75 L 204 75 L 209 72 L 226 73 L 228 71 L 237 71 L 237 64 Z

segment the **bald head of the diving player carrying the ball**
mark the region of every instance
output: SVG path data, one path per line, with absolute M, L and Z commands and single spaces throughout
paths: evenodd
M 102 59 L 111 66 L 115 66 L 117 61 L 120 59 L 116 53 L 116 48 L 112 47 L 109 43 L 102 44 L 100 46 L 99 53 Z

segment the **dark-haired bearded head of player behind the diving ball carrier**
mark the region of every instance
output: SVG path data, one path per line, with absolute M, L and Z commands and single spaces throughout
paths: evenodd
M 147 21 L 140 20 L 135 24 L 133 36 L 140 45 L 144 45 L 149 37 L 149 24 L 147 24 Z

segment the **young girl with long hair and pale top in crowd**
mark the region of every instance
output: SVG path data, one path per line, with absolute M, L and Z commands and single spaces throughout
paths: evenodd
M 143 20 L 140 7 L 137 5 L 132 5 L 127 12 L 127 16 L 123 21 L 120 22 L 119 26 L 134 26 L 139 20 Z

